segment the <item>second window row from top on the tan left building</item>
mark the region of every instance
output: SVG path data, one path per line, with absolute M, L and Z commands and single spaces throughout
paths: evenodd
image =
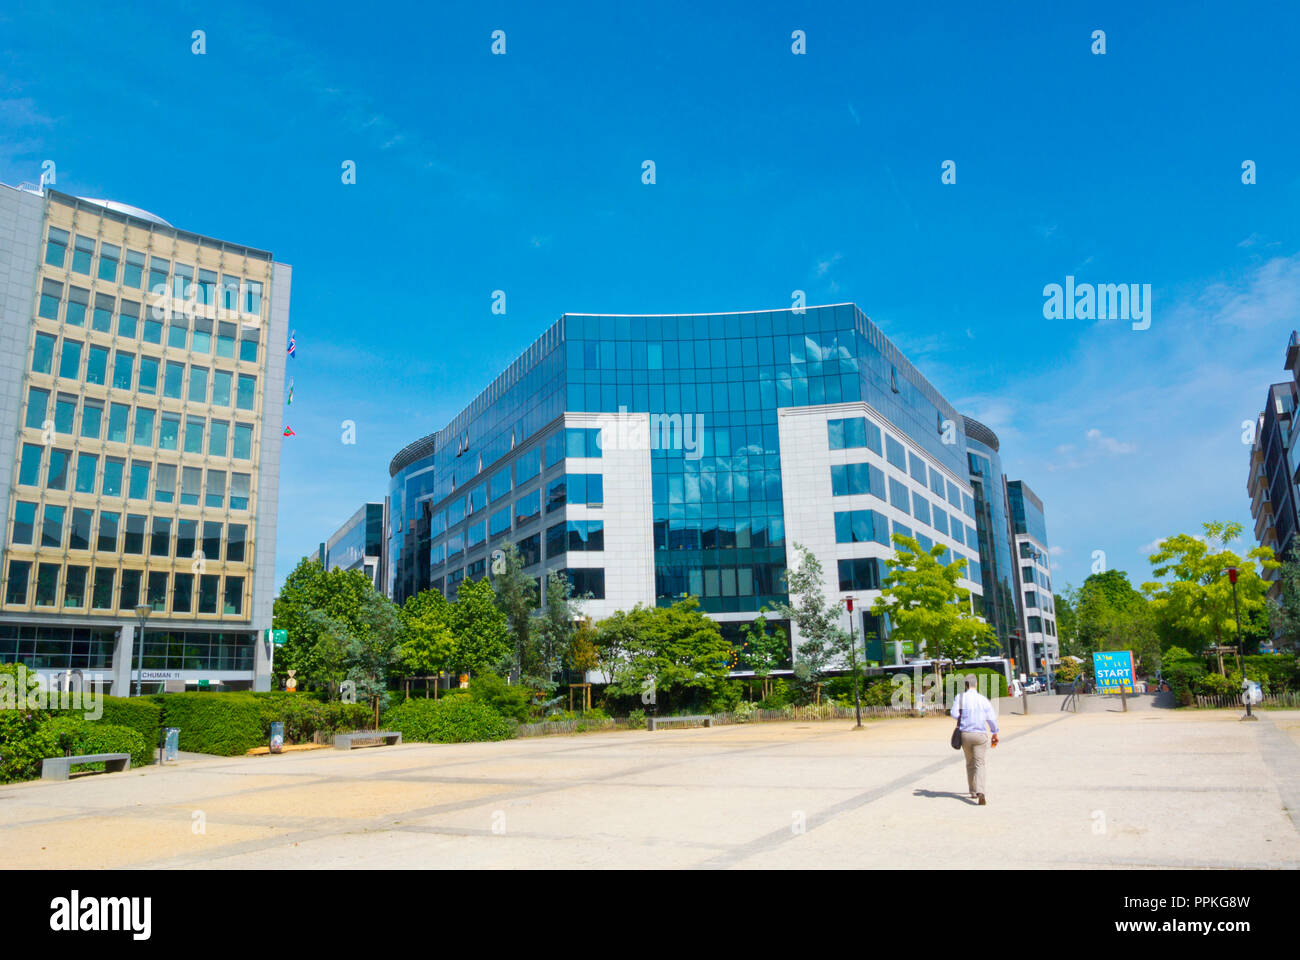
M 213 321 L 204 316 L 187 316 L 172 312 L 170 308 L 142 307 L 135 300 L 118 300 L 112 294 L 96 293 L 79 286 L 68 287 L 64 299 L 64 285 L 57 280 L 43 280 L 40 299 L 36 302 L 36 316 L 69 327 L 88 327 L 96 333 L 116 334 L 125 340 L 140 340 L 144 343 L 161 346 L 164 328 L 166 345 L 177 350 L 192 350 L 196 354 L 216 354 L 225 359 L 235 359 L 238 342 L 239 359 L 247 363 L 257 362 L 257 349 L 261 330 L 257 327 L 242 327 L 229 320 Z M 242 329 L 240 329 L 242 327 Z

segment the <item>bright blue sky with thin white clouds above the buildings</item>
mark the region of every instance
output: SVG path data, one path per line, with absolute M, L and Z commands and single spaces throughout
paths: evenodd
M 1057 587 L 1249 529 L 1242 421 L 1300 325 L 1296 5 L 701 7 L 10 1 L 0 181 L 53 160 L 294 265 L 281 578 L 560 313 L 796 289 L 998 433 Z M 1150 284 L 1150 329 L 1045 320 L 1067 274 Z

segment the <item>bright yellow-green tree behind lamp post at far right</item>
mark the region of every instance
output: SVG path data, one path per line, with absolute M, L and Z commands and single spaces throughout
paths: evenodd
M 1169 580 L 1143 584 L 1166 643 L 1179 641 L 1196 652 L 1222 644 L 1225 637 L 1235 641 L 1232 585 L 1226 570 L 1238 568 L 1236 597 L 1244 626 L 1264 611 L 1269 589 L 1256 565 L 1264 570 L 1279 566 L 1268 546 L 1256 546 L 1245 555 L 1227 549 L 1242 536 L 1240 523 L 1204 523 L 1201 528 L 1204 537 L 1179 533 L 1162 540 L 1150 565 L 1156 576 Z

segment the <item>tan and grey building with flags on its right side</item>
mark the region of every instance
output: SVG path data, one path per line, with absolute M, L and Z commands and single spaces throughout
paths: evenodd
M 0 186 L 0 660 L 269 688 L 289 297 L 263 250 Z

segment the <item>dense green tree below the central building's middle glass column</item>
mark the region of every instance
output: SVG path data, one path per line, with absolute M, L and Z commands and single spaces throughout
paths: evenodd
M 688 695 L 712 700 L 724 692 L 732 648 L 718 623 L 699 611 L 696 597 L 672 606 L 638 604 L 621 615 L 618 630 L 625 660 L 615 667 L 612 696 L 641 697 L 653 689 L 656 701 L 680 701 Z

